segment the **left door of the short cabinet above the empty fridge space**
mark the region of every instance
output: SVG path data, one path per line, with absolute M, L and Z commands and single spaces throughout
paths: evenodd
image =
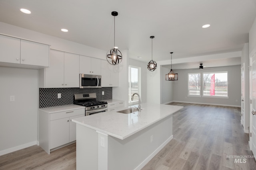
M 20 39 L 0 35 L 0 62 L 20 63 Z

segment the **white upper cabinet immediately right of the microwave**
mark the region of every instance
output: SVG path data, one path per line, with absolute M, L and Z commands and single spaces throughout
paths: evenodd
M 111 65 L 106 60 L 101 60 L 101 86 L 118 87 L 119 86 L 119 66 Z

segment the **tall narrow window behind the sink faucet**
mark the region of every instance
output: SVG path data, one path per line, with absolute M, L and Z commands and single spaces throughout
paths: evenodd
M 129 103 L 139 101 L 137 95 L 132 101 L 131 98 L 134 93 L 140 94 L 140 67 L 129 66 Z

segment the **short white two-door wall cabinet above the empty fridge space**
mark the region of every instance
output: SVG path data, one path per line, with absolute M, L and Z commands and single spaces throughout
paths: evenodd
M 0 35 L 0 62 L 3 66 L 44 68 L 49 66 L 49 45 Z

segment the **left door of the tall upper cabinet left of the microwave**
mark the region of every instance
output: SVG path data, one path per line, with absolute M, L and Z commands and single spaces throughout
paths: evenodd
M 50 50 L 50 67 L 45 69 L 45 88 L 64 87 L 64 52 Z

